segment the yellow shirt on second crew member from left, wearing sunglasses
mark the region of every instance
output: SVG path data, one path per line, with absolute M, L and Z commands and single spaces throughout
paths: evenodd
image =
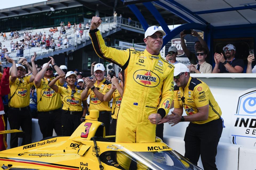
M 50 81 L 53 78 L 50 79 Z M 48 112 L 61 108 L 61 95 L 55 93 L 53 89 L 48 86 L 49 82 L 44 77 L 37 88 L 37 110 L 39 112 Z M 57 86 L 63 86 L 59 80 L 55 83 Z

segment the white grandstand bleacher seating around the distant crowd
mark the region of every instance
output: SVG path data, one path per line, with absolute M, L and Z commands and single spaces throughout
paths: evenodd
M 101 33 L 105 33 L 105 32 L 108 32 L 114 28 L 116 28 L 117 24 L 114 23 L 114 22 L 111 22 L 111 23 L 102 23 L 101 26 L 98 28 Z M 68 45 L 62 45 L 60 47 L 58 46 L 55 46 L 55 50 L 61 50 L 63 48 L 67 48 L 68 46 L 75 46 L 77 44 L 80 44 L 80 43 L 83 43 L 87 40 L 90 39 L 89 37 L 89 30 L 84 30 L 83 31 L 83 35 L 82 35 L 82 38 L 77 38 L 76 36 L 76 33 L 74 33 L 74 29 L 73 28 L 70 28 L 70 29 L 67 29 L 66 30 L 66 34 L 60 34 L 59 30 L 61 29 L 60 27 L 57 27 L 58 28 L 58 31 L 53 33 L 53 39 L 54 40 L 57 40 L 59 36 L 61 36 L 62 38 L 64 38 L 65 36 L 67 36 L 67 39 L 69 39 L 69 43 Z M 84 25 L 82 24 L 82 28 L 85 28 Z M 50 30 L 51 28 L 42 28 L 42 29 L 32 29 L 32 30 L 26 30 L 26 32 L 31 32 L 31 35 L 35 35 L 35 33 L 42 33 L 46 34 L 46 37 L 50 34 Z M 20 37 L 17 38 L 17 39 L 10 39 L 11 37 L 9 36 L 10 35 L 10 32 L 6 32 L 6 36 L 7 36 L 7 40 L 3 41 L 3 36 L 0 36 L 0 42 L 2 43 L 2 48 L 3 46 L 5 45 L 5 47 L 8 49 L 8 52 L 9 52 L 9 57 L 12 57 L 15 61 L 16 60 L 19 60 L 20 58 L 22 57 L 16 57 L 16 51 L 14 52 L 11 52 L 11 41 L 13 41 L 14 43 L 16 41 L 20 41 L 22 39 L 24 39 L 23 37 L 23 33 L 22 32 L 22 35 L 20 34 Z M 56 42 L 56 41 L 55 41 Z M 42 54 L 45 54 L 45 53 L 48 53 L 48 52 L 52 52 L 53 50 L 50 48 L 50 49 L 42 49 L 42 47 L 31 47 L 29 49 L 24 49 L 23 50 L 23 57 L 25 58 L 29 58 L 31 56 L 34 55 L 34 52 L 36 52 L 39 55 L 42 55 Z

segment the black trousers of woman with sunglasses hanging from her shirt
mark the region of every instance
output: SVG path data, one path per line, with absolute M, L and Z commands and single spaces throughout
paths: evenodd
M 70 114 L 70 111 L 62 111 L 61 124 L 63 130 L 63 136 L 71 136 L 72 133 L 77 129 L 81 124 L 81 117 L 83 112 L 77 112 Z

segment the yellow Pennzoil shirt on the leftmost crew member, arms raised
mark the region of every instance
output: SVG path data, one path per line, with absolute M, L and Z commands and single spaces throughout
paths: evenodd
M 11 82 L 10 76 L 10 94 L 8 99 L 14 95 L 9 101 L 9 107 L 23 108 L 29 105 L 30 88 L 33 86 L 33 83 L 29 82 L 30 77 L 31 75 L 21 79 L 17 78 L 15 82 Z

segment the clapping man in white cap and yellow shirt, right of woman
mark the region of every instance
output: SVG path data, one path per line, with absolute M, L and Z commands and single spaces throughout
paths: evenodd
M 85 78 L 85 93 L 81 94 L 82 100 L 90 95 L 89 113 L 95 109 L 99 111 L 98 121 L 104 123 L 106 135 L 109 135 L 111 108 L 109 102 L 104 101 L 104 95 L 111 89 L 111 83 L 104 78 L 105 67 L 98 63 L 94 67 L 95 78 Z

